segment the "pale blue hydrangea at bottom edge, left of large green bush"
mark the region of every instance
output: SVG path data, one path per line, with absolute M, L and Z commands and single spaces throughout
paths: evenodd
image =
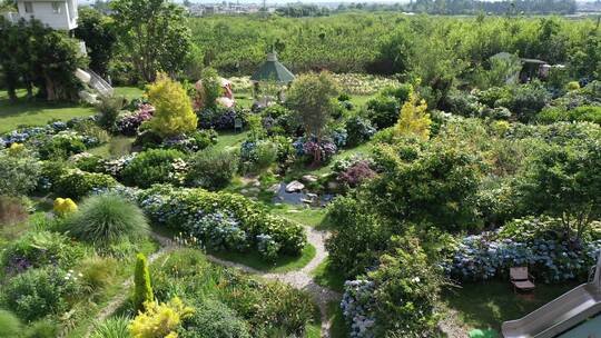
M 343 315 L 351 322 L 352 338 L 375 337 L 372 327 L 374 282 L 370 280 L 347 280 L 344 282 L 344 295 L 341 301 Z

